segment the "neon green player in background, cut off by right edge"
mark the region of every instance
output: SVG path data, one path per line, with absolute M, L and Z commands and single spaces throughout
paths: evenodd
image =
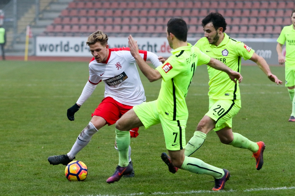
M 276 50 L 278 52 L 278 62 L 283 65 L 285 63 L 285 86 L 288 88 L 292 102 L 292 113 L 289 122 L 295 122 L 295 9 L 291 14 L 292 24 L 285 26 L 277 39 Z M 282 46 L 286 41 L 286 60 L 282 55 Z

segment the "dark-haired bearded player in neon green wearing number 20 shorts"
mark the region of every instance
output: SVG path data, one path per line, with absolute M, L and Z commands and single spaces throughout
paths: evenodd
M 241 59 L 250 59 L 268 76 L 272 82 L 282 82 L 271 73 L 266 61 L 246 44 L 231 39 L 226 33 L 226 22 L 219 13 L 210 13 L 202 20 L 205 37 L 195 44 L 202 52 L 240 72 Z M 204 143 L 207 133 L 212 129 L 223 144 L 248 149 L 256 159 L 256 169 L 263 165 L 264 142 L 252 142 L 238 133 L 232 132 L 232 118 L 241 108 L 239 83 L 230 80 L 224 72 L 208 66 L 209 73 L 209 111 L 199 122 L 194 136 L 186 144 L 184 154 L 192 155 Z M 176 172 L 175 170 L 173 172 Z

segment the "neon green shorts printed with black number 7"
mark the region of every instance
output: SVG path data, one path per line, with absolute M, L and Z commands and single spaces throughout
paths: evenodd
M 157 100 L 152 102 L 143 102 L 133 107 L 145 129 L 155 124 L 162 124 L 166 148 L 168 150 L 181 150 L 185 148 L 185 127 L 186 119 L 168 120 L 159 114 L 157 110 Z

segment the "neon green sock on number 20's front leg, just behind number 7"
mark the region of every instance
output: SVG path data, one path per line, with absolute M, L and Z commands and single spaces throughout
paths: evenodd
M 185 146 L 184 155 L 191 156 L 196 150 L 198 150 L 206 139 L 206 134 L 200 131 L 195 131 L 194 136 L 189 140 Z

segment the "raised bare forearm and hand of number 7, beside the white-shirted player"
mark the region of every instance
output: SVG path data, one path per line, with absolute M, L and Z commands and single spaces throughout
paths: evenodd
M 162 78 L 162 76 L 161 76 L 160 72 L 158 72 L 158 70 L 151 68 L 145 62 L 145 60 L 142 59 L 142 57 L 140 56 L 140 54 L 138 52 L 137 41 L 135 41 L 131 35 L 128 37 L 128 40 L 129 40 L 128 44 L 129 44 L 129 48 L 130 48 L 130 53 L 134 57 L 136 63 L 138 64 L 139 69 L 145 75 L 145 77 L 147 77 L 150 82 L 154 82 L 154 81 Z

